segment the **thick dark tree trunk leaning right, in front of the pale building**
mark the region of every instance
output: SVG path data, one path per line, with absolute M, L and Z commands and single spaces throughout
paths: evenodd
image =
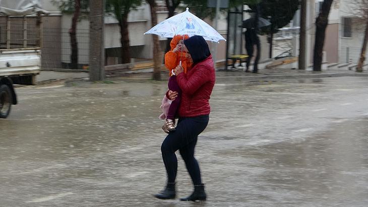
M 322 4 L 322 10 L 316 19 L 316 41 L 313 57 L 313 71 L 321 71 L 322 52 L 325 44 L 326 28 L 328 25 L 328 15 L 333 0 L 325 0 Z

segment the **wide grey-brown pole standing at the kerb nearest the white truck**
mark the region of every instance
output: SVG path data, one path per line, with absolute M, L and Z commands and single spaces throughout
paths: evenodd
M 104 0 L 90 0 L 89 27 L 89 80 L 105 78 L 105 46 L 104 46 Z

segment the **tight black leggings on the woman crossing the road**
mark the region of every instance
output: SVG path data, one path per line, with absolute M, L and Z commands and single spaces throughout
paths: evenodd
M 200 185 L 201 171 L 194 158 L 198 135 L 207 127 L 209 116 L 179 118 L 176 130 L 170 132 L 161 145 L 162 159 L 165 164 L 169 183 L 175 182 L 177 159 L 175 151 L 179 150 L 194 185 Z

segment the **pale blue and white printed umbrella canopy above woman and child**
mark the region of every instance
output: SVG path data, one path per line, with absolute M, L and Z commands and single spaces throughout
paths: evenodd
M 144 34 L 157 34 L 161 37 L 173 37 L 177 34 L 187 34 L 189 36 L 199 35 L 213 42 L 218 42 L 220 40 L 226 41 L 226 39 L 209 24 L 190 13 L 188 8 L 185 12 L 158 23 Z

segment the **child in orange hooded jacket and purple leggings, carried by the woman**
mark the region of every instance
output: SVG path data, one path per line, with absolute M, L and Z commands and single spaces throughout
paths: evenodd
M 188 35 L 175 35 L 170 42 L 171 50 L 165 54 L 165 66 L 170 71 L 170 78 L 167 85 L 169 87 L 169 90 L 178 92 L 175 100 L 169 100 L 166 95 L 162 100 L 161 109 L 163 113 L 160 115 L 159 118 L 165 119 L 165 124 L 162 126 L 162 129 L 166 133 L 169 133 L 170 131 L 175 131 L 175 114 L 180 104 L 181 90 L 176 82 L 176 75 L 174 74 L 173 69 L 175 69 L 175 67 L 179 65 L 180 61 L 184 73 L 187 73 L 187 69 L 191 67 L 191 63 L 186 58 L 187 54 L 185 52 L 182 52 L 183 39 L 188 38 Z

